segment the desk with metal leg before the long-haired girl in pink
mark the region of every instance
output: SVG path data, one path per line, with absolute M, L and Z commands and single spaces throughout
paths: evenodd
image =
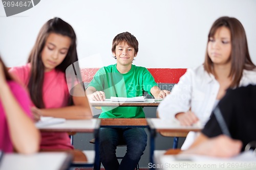
M 49 125 L 46 127 L 39 128 L 42 132 L 84 132 L 84 133 L 94 133 L 95 137 L 95 159 L 94 162 L 99 162 L 99 142 L 98 142 L 98 130 L 100 126 L 100 120 L 98 118 L 92 119 L 77 119 L 69 120 L 67 119 L 65 123 Z M 94 166 L 94 169 L 99 170 L 100 165 L 98 163 L 72 163 L 75 167 L 86 167 Z

